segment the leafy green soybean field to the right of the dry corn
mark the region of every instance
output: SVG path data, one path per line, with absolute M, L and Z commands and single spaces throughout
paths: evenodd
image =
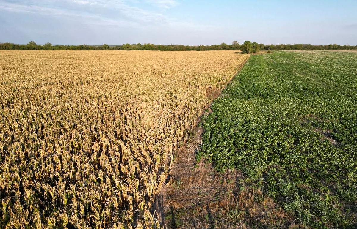
M 202 117 L 196 158 L 313 228 L 357 227 L 357 53 L 252 55 Z

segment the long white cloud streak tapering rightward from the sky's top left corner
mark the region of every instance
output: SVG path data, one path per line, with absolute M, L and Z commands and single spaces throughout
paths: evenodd
M 60 4 L 38 4 L 41 1 L 27 1 L 26 4 L 0 1 L 0 10 L 50 16 L 82 17 L 87 23 L 127 26 L 167 24 L 166 16 L 126 5 L 124 1 L 66 0 Z M 42 1 L 44 3 L 45 1 Z M 66 2 L 66 3 L 64 3 Z

